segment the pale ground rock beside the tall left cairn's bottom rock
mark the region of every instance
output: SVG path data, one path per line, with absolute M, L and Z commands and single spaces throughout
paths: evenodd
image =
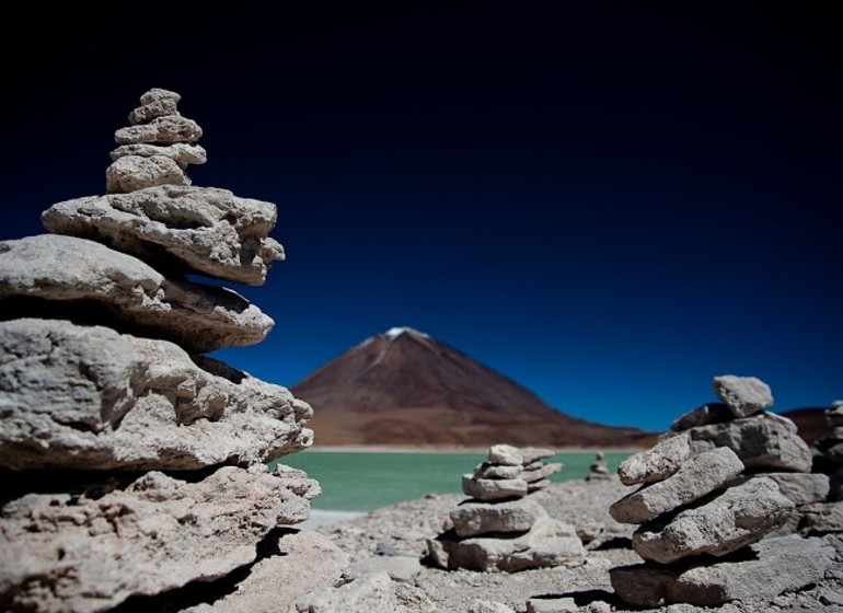
M 286 613 L 291 603 L 342 578 L 348 555 L 330 539 L 311 531 L 277 539 L 278 554 L 255 564 L 236 591 L 184 613 Z

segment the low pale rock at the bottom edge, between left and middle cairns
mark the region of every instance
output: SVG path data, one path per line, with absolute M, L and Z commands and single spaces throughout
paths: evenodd
M 333 590 L 319 590 L 299 599 L 299 613 L 432 613 L 436 606 L 409 583 L 393 581 L 386 572 L 368 575 Z

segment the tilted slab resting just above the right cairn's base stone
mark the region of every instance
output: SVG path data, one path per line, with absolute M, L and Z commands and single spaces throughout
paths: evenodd
M 794 508 L 775 482 L 754 477 L 681 511 L 667 524 L 657 520 L 642 525 L 633 534 L 633 548 L 660 564 L 701 554 L 724 556 L 784 524 Z

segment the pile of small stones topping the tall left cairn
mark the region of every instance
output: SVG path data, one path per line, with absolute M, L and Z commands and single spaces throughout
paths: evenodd
M 182 99 L 175 92 L 153 89 L 140 96 L 140 106 L 129 114 L 129 126 L 118 129 L 105 171 L 105 192 L 134 192 L 155 185 L 190 185 L 188 164 L 204 164 L 205 149 L 195 144 L 201 128 L 176 109 Z

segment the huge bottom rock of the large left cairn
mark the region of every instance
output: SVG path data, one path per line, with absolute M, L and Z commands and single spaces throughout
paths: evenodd
M 309 512 L 282 478 L 233 466 L 195 484 L 151 472 L 95 499 L 30 494 L 0 511 L 0 608 L 104 611 L 216 579 Z

